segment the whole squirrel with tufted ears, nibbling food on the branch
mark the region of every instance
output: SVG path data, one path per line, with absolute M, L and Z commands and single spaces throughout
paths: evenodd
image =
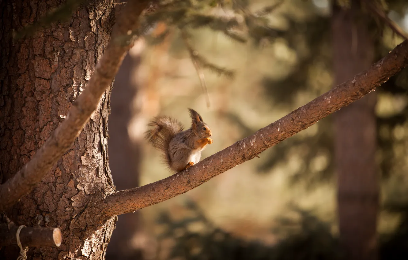
M 184 130 L 180 121 L 172 117 L 155 117 L 147 126 L 146 139 L 163 153 L 164 162 L 171 170 L 181 172 L 198 163 L 201 151 L 213 143 L 211 129 L 200 114 L 188 108 L 191 128 Z

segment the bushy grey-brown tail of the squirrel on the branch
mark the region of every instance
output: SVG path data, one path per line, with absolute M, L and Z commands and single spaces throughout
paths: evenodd
M 183 124 L 172 117 L 155 117 L 147 126 L 146 139 L 154 148 L 163 152 L 167 163 L 171 163 L 169 157 L 169 144 L 175 134 L 181 132 Z

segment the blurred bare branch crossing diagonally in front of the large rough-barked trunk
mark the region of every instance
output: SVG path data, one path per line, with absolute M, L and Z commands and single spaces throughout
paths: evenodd
M 132 32 L 137 30 L 139 15 L 148 3 L 148 0 L 128 2 L 128 7 L 113 27 L 109 46 L 96 65 L 85 90 L 69 110 L 67 118 L 55 129 L 31 160 L 0 186 L 0 212 L 11 207 L 22 196 L 29 193 L 62 154 L 71 148 L 85 123 L 88 122 L 91 113 L 97 108 L 106 87 L 115 77 L 124 55 L 131 47 L 134 38 Z

